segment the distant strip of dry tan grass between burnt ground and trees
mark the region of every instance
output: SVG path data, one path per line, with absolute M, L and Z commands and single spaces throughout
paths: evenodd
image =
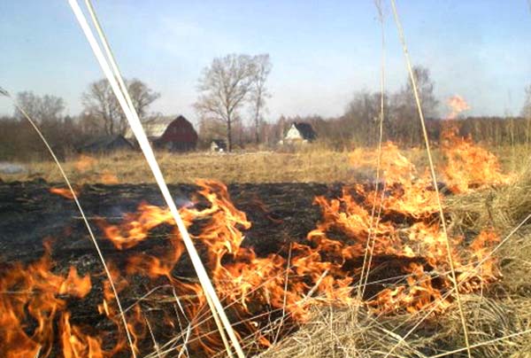
M 518 169 L 526 148 L 499 148 L 502 164 L 507 170 Z M 525 155 L 523 153 L 526 153 Z M 435 160 L 439 157 L 435 150 Z M 404 151 L 419 168 L 427 166 L 425 152 L 419 149 Z M 235 152 L 217 154 L 192 152 L 186 154 L 159 152 L 158 161 L 168 183 L 193 183 L 198 178 L 223 183 L 352 183 L 372 177 L 371 171 L 354 170 L 350 152 L 335 152 L 322 146 L 309 145 L 297 152 Z M 114 177 L 119 183 L 153 183 L 150 168 L 140 152 L 115 152 L 94 157 L 92 165 L 80 170 L 79 156 L 65 160 L 64 167 L 73 183 L 106 183 Z M 27 172 L 0 174 L 5 182 L 43 178 L 57 183 L 62 179 L 51 161 L 24 164 Z

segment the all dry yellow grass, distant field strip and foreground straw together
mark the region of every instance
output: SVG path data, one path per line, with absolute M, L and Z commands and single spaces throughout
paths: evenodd
M 271 346 L 260 348 L 260 354 L 264 357 L 466 357 L 463 331 L 465 324 L 472 356 L 529 356 L 531 346 L 526 339 L 531 325 L 531 293 L 527 279 L 531 270 L 528 260 L 531 253 L 528 240 L 531 229 L 527 224 L 531 208 L 528 150 L 523 146 L 489 150 L 496 153 L 505 174 L 513 173 L 512 182 L 456 193 L 445 197 L 443 201 L 445 214 L 451 222 L 449 230 L 452 236 L 461 235 L 469 239 L 471 235 L 488 229 L 494 230 L 500 238 L 500 245 L 489 247 L 489 257 L 492 255 L 491 261 L 496 262 L 496 270 L 499 269 L 500 275 L 496 276 L 496 280 L 485 281 L 485 284 L 480 279 L 473 290 L 461 294 L 465 321 L 462 321 L 456 300 L 449 300 L 449 306 L 443 309 L 442 314 L 432 315 L 430 306 L 426 305 L 417 311 L 397 309 L 393 314 L 385 315 L 360 306 L 356 301 L 349 306 L 344 302 L 336 304 L 335 300 L 323 297 L 317 299 L 318 304 L 312 307 L 311 319 L 285 339 L 275 339 Z M 223 183 L 371 181 L 375 168 L 358 167 L 359 163 L 354 161 L 364 160 L 359 153 L 333 152 L 309 146 L 300 152 L 159 152 L 158 160 L 168 183 L 194 183 L 199 178 Z M 417 167 L 419 174 L 423 173 L 427 167 L 424 150 L 410 149 L 402 153 Z M 444 180 L 443 154 L 435 149 L 434 156 L 437 171 Z M 63 165 L 67 175 L 77 185 L 153 183 L 149 167 L 139 152 L 77 156 L 65 160 Z M 58 169 L 52 162 L 33 162 L 25 166 L 26 173 L 2 175 L 2 180 L 14 182 L 43 178 L 50 183 L 62 182 Z M 471 171 L 474 169 L 471 168 Z M 407 183 L 403 184 L 407 187 Z M 421 205 L 418 207 L 423 210 Z M 342 206 L 337 209 L 341 211 Z M 352 213 L 347 206 L 345 212 L 337 218 L 350 217 Z M 425 222 L 420 223 L 434 225 L 435 222 L 435 231 L 438 232 L 436 221 L 433 220 L 436 212 L 430 213 L 432 214 L 424 219 Z M 415 217 L 412 214 L 410 219 Z M 402 224 L 397 224 L 397 230 L 404 230 Z M 444 252 L 442 247 L 427 246 L 427 252 L 436 256 Z M 444 255 L 439 259 L 444 262 Z M 444 265 L 440 266 L 443 267 Z M 327 275 L 327 272 L 323 275 Z M 429 275 L 448 276 L 447 273 L 438 271 L 436 265 Z M 481 275 L 483 273 L 478 274 L 478 277 Z M 434 283 L 436 282 L 434 278 Z M 319 284 L 318 280 L 315 287 Z M 308 297 L 311 294 L 308 293 Z M 263 334 L 266 335 L 266 332 Z M 242 339 L 244 346 L 255 346 L 256 342 L 254 335 Z M 158 352 L 150 356 L 157 356 L 156 354 Z

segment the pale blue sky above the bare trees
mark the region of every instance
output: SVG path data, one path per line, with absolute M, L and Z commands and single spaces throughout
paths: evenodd
M 81 1 L 82 3 L 82 1 Z M 385 3 L 387 85 L 405 82 L 404 56 Z M 341 114 L 357 90 L 378 90 L 380 24 L 372 0 L 94 0 L 126 77 L 158 90 L 152 110 L 193 121 L 197 78 L 227 53 L 271 56 L 269 116 Z M 398 0 L 413 63 L 430 68 L 438 97 L 466 98 L 470 114 L 518 114 L 531 84 L 527 0 Z M 0 2 L 0 86 L 64 97 L 102 77 L 66 0 Z M 445 108 L 442 107 L 442 112 Z M 12 107 L 0 99 L 0 113 Z

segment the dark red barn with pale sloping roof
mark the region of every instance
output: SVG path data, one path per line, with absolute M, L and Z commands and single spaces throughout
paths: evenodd
M 192 123 L 184 116 L 160 117 L 142 123 L 146 136 L 155 148 L 173 152 L 188 152 L 196 149 L 197 133 Z M 133 132 L 127 129 L 126 138 L 134 140 Z

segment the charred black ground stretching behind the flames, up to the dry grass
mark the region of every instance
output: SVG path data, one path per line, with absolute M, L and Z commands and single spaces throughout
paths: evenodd
M 42 240 L 47 237 L 53 240 L 53 258 L 59 266 L 96 259 L 73 200 L 50 193 L 54 186 L 62 185 L 43 181 L 0 183 L 0 262 L 35 261 L 42 256 Z M 243 245 L 254 247 L 257 253 L 272 253 L 283 243 L 304 240 L 320 219 L 313 198 L 337 197 L 341 188 L 339 183 L 228 185 L 236 208 L 252 222 Z M 191 199 L 196 190 L 195 185 L 170 185 L 178 205 Z M 81 187 L 80 192 L 81 206 L 98 238 L 103 235 L 96 218 L 119 222 L 122 214 L 135 212 L 142 202 L 165 206 L 156 185 L 95 184 Z M 100 243 L 106 257 L 117 254 L 107 240 L 101 239 Z

